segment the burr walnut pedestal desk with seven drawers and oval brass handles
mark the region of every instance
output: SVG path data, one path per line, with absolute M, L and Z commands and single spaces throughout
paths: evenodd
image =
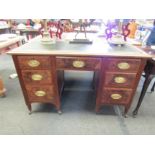
M 61 113 L 64 70 L 94 71 L 96 112 L 104 105 L 123 105 L 126 114 L 150 58 L 132 45 L 111 47 L 104 39 L 93 44 L 58 41 L 44 45 L 41 37 L 8 52 L 14 60 L 28 109 L 34 102 L 52 103 Z

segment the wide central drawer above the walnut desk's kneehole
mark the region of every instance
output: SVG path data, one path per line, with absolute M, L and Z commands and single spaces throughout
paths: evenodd
M 101 68 L 101 59 L 90 57 L 57 57 L 56 65 L 58 69 L 99 70 Z

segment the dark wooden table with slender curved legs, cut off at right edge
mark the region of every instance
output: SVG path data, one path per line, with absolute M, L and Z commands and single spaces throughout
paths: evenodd
M 155 50 L 152 50 L 149 47 L 142 48 L 142 49 L 145 52 L 152 55 L 153 58 L 155 58 Z M 145 93 L 147 91 L 147 88 L 148 88 L 150 82 L 152 81 L 152 79 L 155 77 L 155 60 L 149 59 L 147 61 L 144 72 L 145 72 L 145 81 L 144 81 L 144 84 L 143 84 L 143 88 L 142 88 L 142 91 L 141 91 L 137 106 L 133 111 L 133 116 L 136 116 L 138 114 L 138 110 L 139 110 L 139 108 L 140 108 L 140 106 L 142 104 L 142 101 L 143 101 L 143 98 L 144 98 Z M 152 87 L 151 91 L 153 91 L 154 85 L 155 85 L 155 83 L 153 84 L 153 87 Z

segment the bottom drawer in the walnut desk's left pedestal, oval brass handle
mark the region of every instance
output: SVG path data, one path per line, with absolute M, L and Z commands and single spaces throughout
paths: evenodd
M 29 102 L 52 102 L 54 100 L 53 86 L 26 86 Z

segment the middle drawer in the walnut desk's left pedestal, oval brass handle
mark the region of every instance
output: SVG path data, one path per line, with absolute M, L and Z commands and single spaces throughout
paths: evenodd
M 25 84 L 52 84 L 52 75 L 49 70 L 22 70 Z

